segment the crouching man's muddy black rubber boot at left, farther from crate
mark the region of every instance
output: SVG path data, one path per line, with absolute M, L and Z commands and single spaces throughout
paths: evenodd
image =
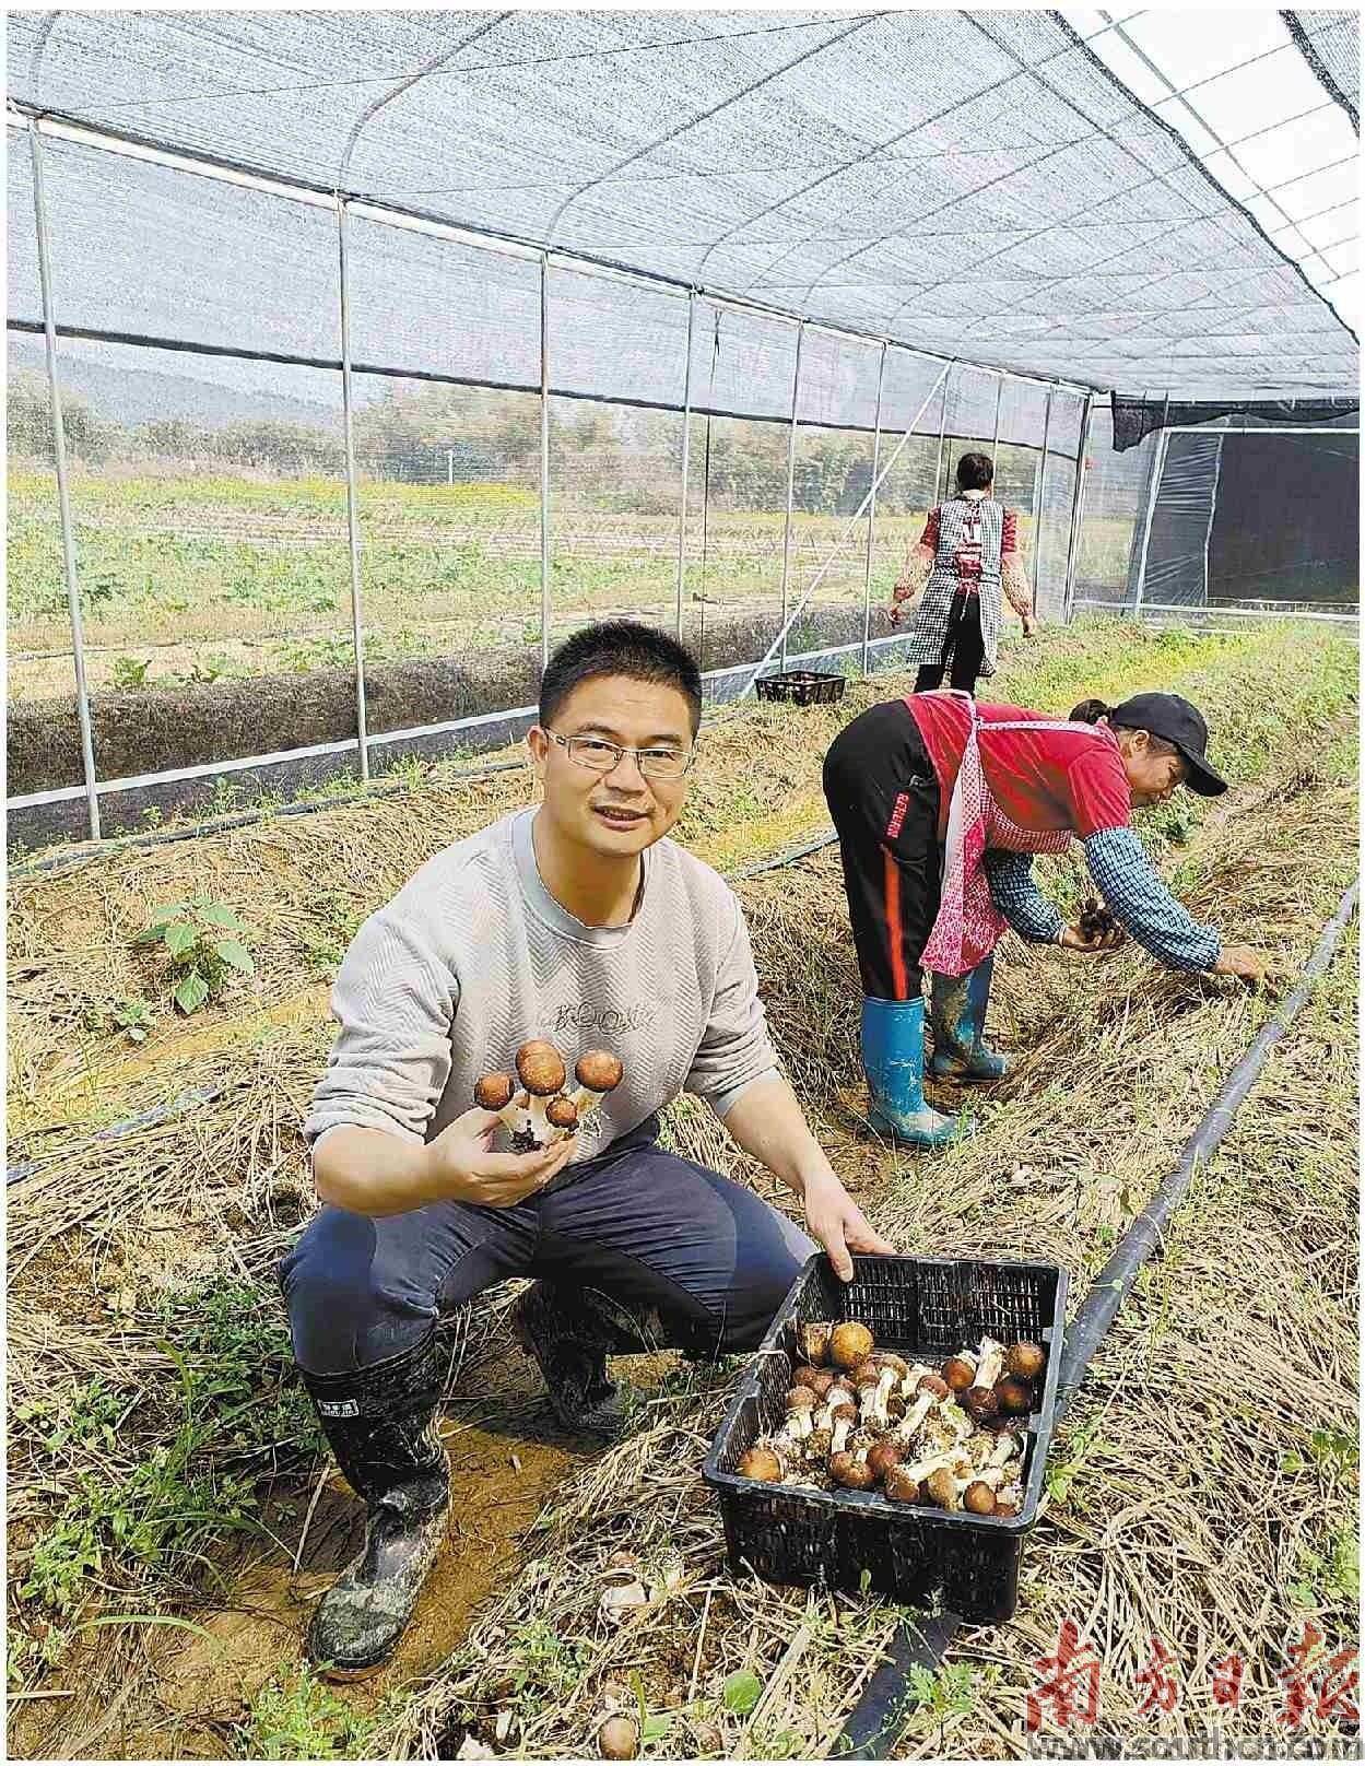
M 304 1374 L 323 1432 L 357 1496 L 366 1543 L 318 1604 L 307 1653 L 327 1679 L 381 1667 L 408 1628 L 450 1512 L 450 1473 L 436 1436 L 436 1333 L 355 1374 Z

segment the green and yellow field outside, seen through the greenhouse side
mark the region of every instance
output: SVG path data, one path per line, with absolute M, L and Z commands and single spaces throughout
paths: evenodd
M 344 487 L 327 479 L 72 473 L 72 512 L 92 691 L 305 675 L 351 657 Z M 814 602 L 860 600 L 865 523 L 841 547 L 839 516 L 793 517 L 789 604 L 837 556 Z M 1112 523 L 1114 579 L 1127 525 Z M 362 597 L 373 660 L 539 639 L 539 496 L 519 484 L 362 482 Z M 768 609 L 781 625 L 781 512 L 689 516 L 683 600 Z M 924 510 L 879 514 L 872 597 L 890 599 Z M 1051 530 L 1049 530 L 1051 535 Z M 1033 519 L 1021 517 L 1026 549 Z M 705 562 L 703 562 L 705 539 Z M 1056 558 L 1052 555 L 1058 555 Z M 1093 558 L 1093 537 L 1088 556 Z M 616 514 L 556 500 L 551 608 L 556 625 L 606 613 L 671 623 L 676 514 Z M 1049 537 L 1049 569 L 1065 532 Z M 705 597 L 705 600 L 703 600 Z M 800 650 L 802 625 L 791 648 Z M 69 694 L 71 625 L 51 475 L 9 473 L 9 694 Z

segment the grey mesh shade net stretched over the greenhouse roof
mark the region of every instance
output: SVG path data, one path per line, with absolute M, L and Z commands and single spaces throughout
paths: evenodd
M 9 81 L 58 120 L 943 357 L 1190 397 L 1356 383 L 1353 332 L 1056 12 L 26 12 Z M 87 284 L 194 258 L 203 182 L 140 226 L 115 208 L 108 258 L 74 203 L 64 323 L 109 304 Z M 260 249 L 254 207 L 221 203 L 221 267 Z M 170 336 L 251 346 L 297 304 L 272 256 L 247 288 L 166 288 Z M 466 373 L 509 383 L 526 314 L 479 313 L 475 283 L 449 290 L 482 321 Z M 406 325 L 381 346 L 420 367 Z M 607 397 L 648 378 L 606 321 L 574 355 Z

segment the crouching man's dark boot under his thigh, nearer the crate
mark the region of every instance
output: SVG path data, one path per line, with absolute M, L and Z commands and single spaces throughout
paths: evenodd
M 560 1427 L 604 1441 L 615 1439 L 625 1422 L 622 1388 L 607 1376 L 607 1356 L 667 1347 L 657 1312 L 562 1282 L 535 1282 L 521 1294 L 512 1307 L 512 1335 L 544 1374 Z

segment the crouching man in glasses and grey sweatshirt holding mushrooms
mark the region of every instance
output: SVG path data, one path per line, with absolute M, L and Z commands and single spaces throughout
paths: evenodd
M 434 1328 L 507 1277 L 514 1333 L 565 1429 L 618 1423 L 607 1356 L 750 1349 L 814 1249 L 752 1190 L 664 1151 L 657 1113 L 703 1097 L 802 1197 L 846 1279 L 869 1227 L 777 1070 L 740 906 L 664 839 L 687 796 L 701 675 L 662 632 L 577 632 L 551 659 L 528 747 L 544 788 L 429 860 L 360 929 L 305 1134 L 325 1206 L 283 1264 L 293 1351 L 367 1505 L 366 1549 L 323 1596 L 309 1653 L 378 1667 L 445 1533 Z M 470 1109 L 544 1038 L 620 1084 L 572 1139 L 509 1151 Z

